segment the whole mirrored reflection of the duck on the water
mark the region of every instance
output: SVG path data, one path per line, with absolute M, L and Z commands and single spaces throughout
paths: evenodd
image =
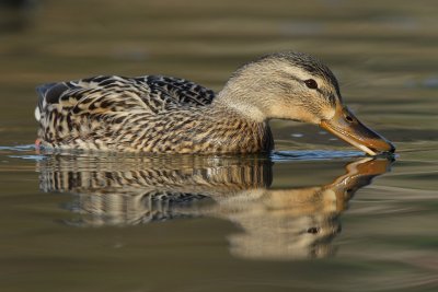
M 348 200 L 390 164 L 362 159 L 349 163 L 347 173 L 331 184 L 272 189 L 272 162 L 266 159 L 105 160 L 54 155 L 41 162 L 42 189 L 78 194 L 71 205 L 80 213 L 74 224 L 217 217 L 242 227 L 229 237 L 231 250 L 251 258 L 331 254 Z

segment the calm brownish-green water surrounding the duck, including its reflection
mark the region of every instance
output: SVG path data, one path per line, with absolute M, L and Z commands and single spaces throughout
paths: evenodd
M 1 291 L 437 291 L 435 1 L 0 1 Z M 15 1 L 20 2 L 20 1 Z M 25 1 L 23 1 L 25 2 Z M 323 59 L 397 145 L 273 122 L 270 156 L 38 153 L 34 87 Z

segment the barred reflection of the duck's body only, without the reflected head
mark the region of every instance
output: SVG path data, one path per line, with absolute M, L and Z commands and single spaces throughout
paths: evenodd
M 220 166 L 205 155 L 81 156 L 49 155 L 38 163 L 39 188 L 73 192 L 68 208 L 87 224 L 139 224 L 195 217 L 196 202 L 265 189 L 272 162 L 224 159 Z M 89 217 L 88 217 L 88 215 Z

